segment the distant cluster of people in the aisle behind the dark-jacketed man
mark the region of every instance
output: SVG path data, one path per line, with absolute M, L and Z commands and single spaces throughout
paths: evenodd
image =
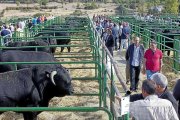
M 127 49 L 131 32 L 128 22 L 116 24 L 105 15 L 94 15 L 93 22 L 112 56 L 114 50 Z

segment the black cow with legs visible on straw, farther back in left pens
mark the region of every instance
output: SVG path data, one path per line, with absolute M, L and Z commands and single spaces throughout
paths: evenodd
M 61 31 L 62 30 L 63 32 L 55 32 L 55 33 L 53 33 L 53 32 L 48 33 L 47 32 L 48 30 L 52 31 L 52 29 L 53 29 L 53 31 Z M 41 35 L 42 36 L 49 35 L 49 36 L 55 36 L 55 37 L 62 37 L 62 36 L 66 37 L 65 39 L 56 38 L 57 45 L 69 45 L 71 42 L 70 34 L 68 32 L 64 32 L 63 28 L 57 29 L 57 28 L 54 28 L 53 26 L 52 27 L 49 26 L 48 28 L 44 28 L 44 30 L 42 29 L 41 33 L 36 34 L 34 37 L 38 37 Z M 68 49 L 68 52 L 71 51 L 70 47 L 67 47 L 67 49 Z M 63 50 L 64 50 L 64 47 L 61 47 L 61 52 L 63 52 Z

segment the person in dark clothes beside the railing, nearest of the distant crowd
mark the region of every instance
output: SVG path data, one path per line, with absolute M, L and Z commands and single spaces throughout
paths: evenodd
M 107 33 L 108 34 L 106 37 L 105 45 L 107 49 L 109 50 L 109 52 L 111 53 L 111 55 L 113 56 L 114 38 L 113 38 L 111 29 L 107 29 Z

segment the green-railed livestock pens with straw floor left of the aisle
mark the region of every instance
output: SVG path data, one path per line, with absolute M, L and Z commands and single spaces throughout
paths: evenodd
M 73 19 L 73 17 L 70 18 Z M 83 25 L 82 21 L 84 22 Z M 30 30 L 26 29 L 22 37 L 19 37 L 17 33 L 11 38 L 13 42 L 32 41 L 41 38 L 70 39 L 71 43 L 68 45 L 0 47 L 4 50 L 32 47 L 38 50 L 38 48 L 43 47 L 56 47 L 56 52 L 53 55 L 58 60 L 57 62 L 1 62 L 0 64 L 14 65 L 15 70 L 19 64 L 62 64 L 70 71 L 75 93 L 61 98 L 54 97 L 50 101 L 49 107 L 1 107 L 0 111 L 57 111 L 55 113 L 42 112 L 38 117 L 45 120 L 129 119 L 128 113 L 120 115 L 119 108 L 121 105 L 114 97 L 115 94 L 124 96 L 129 91 L 120 74 L 121 70 L 101 41 L 90 18 L 87 16 L 78 17 L 73 19 L 72 24 L 74 22 L 78 24 L 69 27 L 65 18 L 56 17 L 47 24 L 35 26 Z M 61 29 L 58 27 L 56 29 L 46 29 L 53 24 L 59 25 Z M 57 36 L 55 35 L 56 32 L 68 32 L 70 34 L 68 37 Z M 44 33 L 45 35 L 34 37 L 38 33 Z M 47 35 L 50 33 L 53 34 Z M 71 51 L 60 52 L 59 47 L 71 47 Z M 106 115 L 99 111 L 104 111 Z

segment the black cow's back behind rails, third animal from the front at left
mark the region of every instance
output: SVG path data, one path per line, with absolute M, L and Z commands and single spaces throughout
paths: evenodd
M 8 43 L 7 47 L 19 47 L 19 48 L 8 48 L 5 50 L 23 50 L 23 51 L 43 51 L 54 53 L 55 48 L 53 47 L 39 47 L 39 48 L 23 48 L 23 46 L 49 46 L 56 45 L 56 40 L 36 40 L 36 41 L 17 41 Z M 22 48 L 20 48 L 22 47 Z

